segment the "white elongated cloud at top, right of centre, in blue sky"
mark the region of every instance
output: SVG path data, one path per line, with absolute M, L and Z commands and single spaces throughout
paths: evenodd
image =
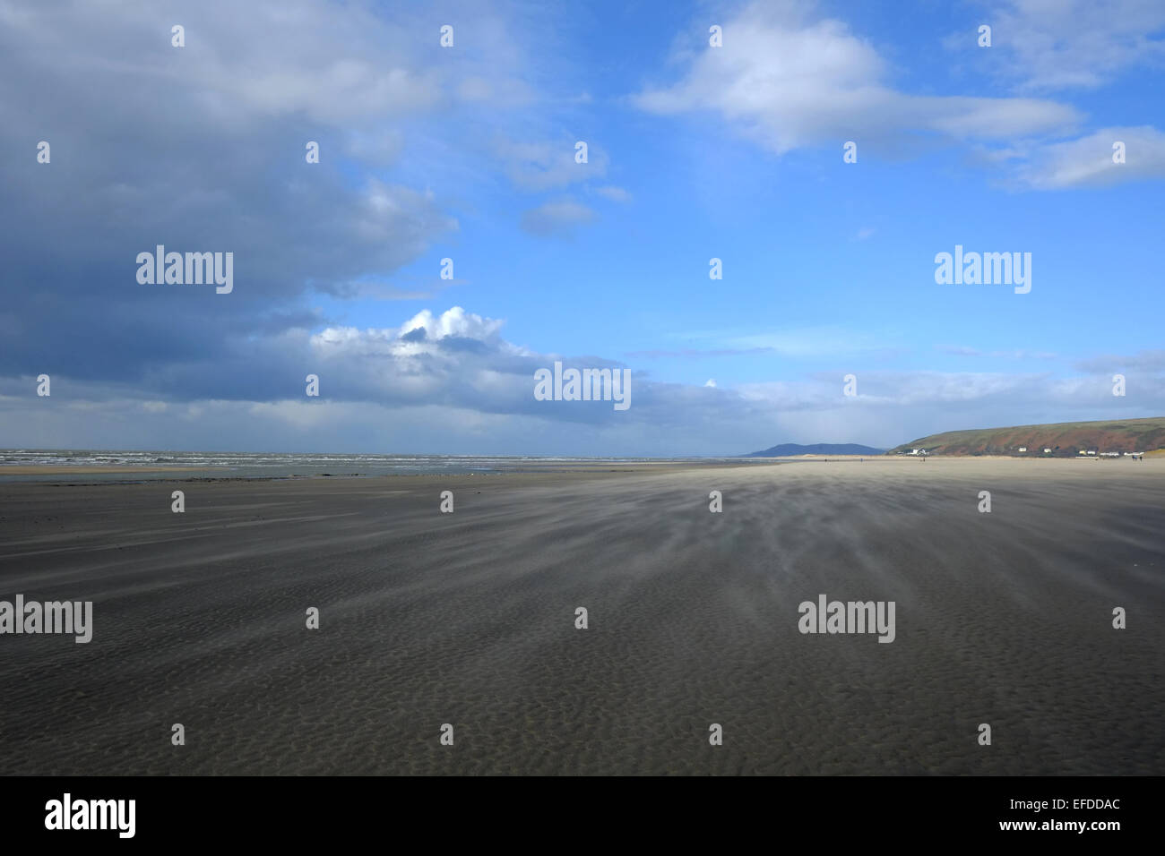
M 723 33 L 722 48 L 690 51 L 678 82 L 643 90 L 633 104 L 662 115 L 719 113 L 776 154 L 913 132 L 1004 140 L 1064 133 L 1078 121 L 1075 109 L 1047 100 L 898 92 L 884 83 L 887 64 L 869 42 L 796 8 L 753 3 Z

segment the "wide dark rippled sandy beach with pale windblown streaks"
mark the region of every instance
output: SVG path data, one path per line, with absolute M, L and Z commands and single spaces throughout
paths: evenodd
M 0 772 L 1162 774 L 1163 532 L 1162 460 L 5 483 L 0 599 L 96 628 L 0 636 Z

